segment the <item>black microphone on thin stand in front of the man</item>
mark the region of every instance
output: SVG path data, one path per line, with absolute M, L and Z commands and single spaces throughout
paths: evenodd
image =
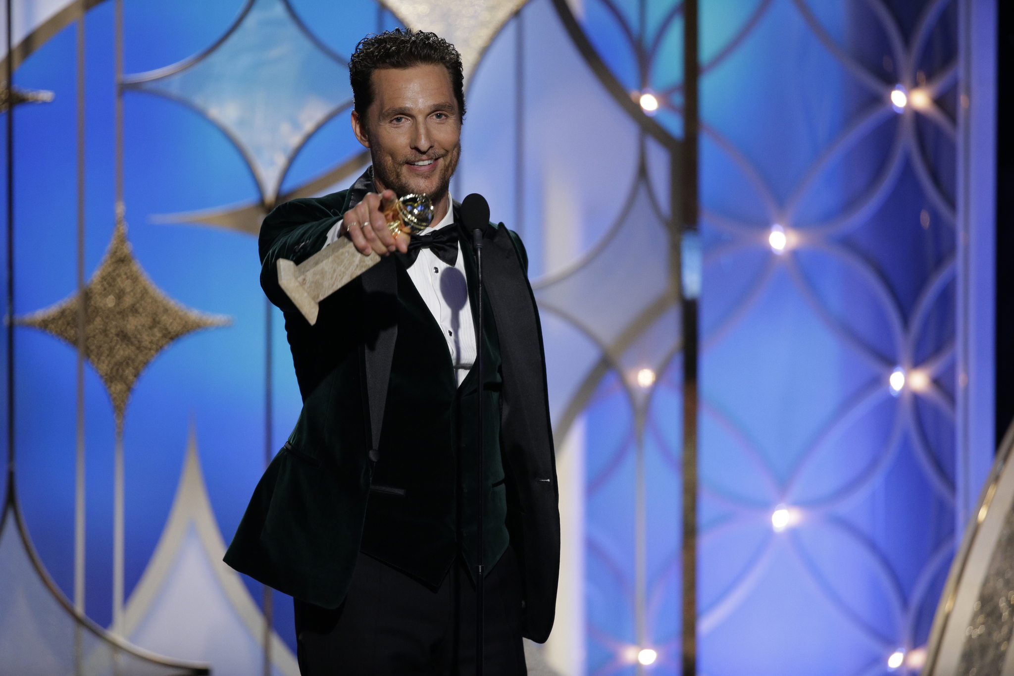
M 486 509 L 486 472 L 483 467 L 483 390 L 486 389 L 486 378 L 483 373 L 483 233 L 490 225 L 490 205 L 479 193 L 473 193 L 461 202 L 461 225 L 472 230 L 472 241 L 476 249 L 476 316 L 479 319 L 476 326 L 476 375 L 479 376 L 478 396 L 476 406 L 479 444 L 476 448 L 476 535 L 478 551 L 476 555 L 476 676 L 483 676 L 486 632 L 486 572 L 483 561 L 483 526 Z

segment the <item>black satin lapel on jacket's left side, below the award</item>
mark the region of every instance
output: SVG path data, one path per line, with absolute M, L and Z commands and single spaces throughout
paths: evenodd
M 383 409 L 387 401 L 390 362 L 397 340 L 397 270 L 394 257 L 386 256 L 360 276 L 363 302 L 373 309 L 367 316 L 376 321 L 366 339 L 366 391 L 369 404 L 370 441 L 373 449 L 380 446 Z

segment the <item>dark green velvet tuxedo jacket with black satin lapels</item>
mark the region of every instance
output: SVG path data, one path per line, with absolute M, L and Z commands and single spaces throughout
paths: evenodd
M 276 261 L 299 264 L 318 251 L 372 183 L 368 169 L 349 191 L 280 205 L 261 228 L 261 285 L 285 314 L 303 409 L 258 483 L 225 562 L 324 608 L 344 600 L 362 541 L 397 337 L 397 270 L 385 257 L 321 301 L 310 326 L 278 286 Z M 470 236 L 461 239 L 462 254 L 474 255 Z M 553 628 L 560 569 L 541 328 L 524 247 L 502 223 L 487 229 L 483 264 L 499 334 L 507 530 L 521 568 L 524 635 L 541 643 Z

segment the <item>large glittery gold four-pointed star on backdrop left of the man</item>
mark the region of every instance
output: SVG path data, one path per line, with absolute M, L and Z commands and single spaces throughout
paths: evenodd
M 151 283 L 131 252 L 126 228 L 118 223 L 113 241 L 81 294 L 18 319 L 77 347 L 78 303 L 84 299 L 84 356 L 105 383 L 118 423 L 134 383 L 166 346 L 229 318 L 184 307 Z

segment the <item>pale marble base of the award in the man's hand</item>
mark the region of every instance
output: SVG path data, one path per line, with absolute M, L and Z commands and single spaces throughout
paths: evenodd
M 312 325 L 321 300 L 378 262 L 380 256 L 376 253 L 363 255 L 351 240 L 340 237 L 298 266 L 279 258 L 278 284 Z

